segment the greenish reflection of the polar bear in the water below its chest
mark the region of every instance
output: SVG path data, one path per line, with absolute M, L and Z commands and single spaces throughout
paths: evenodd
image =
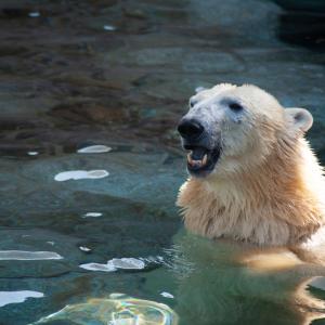
M 178 235 L 171 268 L 179 281 L 180 324 L 309 324 L 325 315 L 324 300 L 306 289 L 325 270 L 290 264 L 290 258 L 283 268 L 280 256 L 278 270 L 257 272 L 240 262 L 255 251 L 240 244 Z M 274 253 L 271 259 L 276 264 Z M 318 281 L 325 283 L 325 278 Z

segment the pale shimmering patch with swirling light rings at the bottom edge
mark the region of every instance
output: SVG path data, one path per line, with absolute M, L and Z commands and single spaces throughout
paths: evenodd
M 72 321 L 78 325 L 177 325 L 178 315 L 166 304 L 112 294 L 109 299 L 90 299 L 84 303 L 66 306 L 42 317 L 36 324 Z

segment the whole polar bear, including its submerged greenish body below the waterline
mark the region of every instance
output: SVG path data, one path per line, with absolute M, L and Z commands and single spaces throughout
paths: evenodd
M 312 122 L 308 110 L 284 108 L 250 84 L 190 99 L 178 127 L 190 178 L 177 204 L 194 233 L 176 245 L 192 265 L 180 276 L 184 324 L 197 315 L 205 325 L 324 318 L 325 302 L 306 290 L 318 282 L 323 290 L 325 280 L 325 181 L 304 139 Z M 259 303 L 272 306 L 275 321 Z

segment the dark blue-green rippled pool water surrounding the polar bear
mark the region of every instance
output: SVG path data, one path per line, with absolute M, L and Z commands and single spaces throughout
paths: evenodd
M 174 127 L 198 87 L 251 82 L 310 109 L 325 162 L 324 34 L 287 15 L 257 0 L 1 1 L 1 325 L 116 292 L 181 325 L 324 315 L 320 270 L 253 273 L 240 247 L 184 233 L 174 207 Z M 110 268 L 123 258 L 144 268 Z

